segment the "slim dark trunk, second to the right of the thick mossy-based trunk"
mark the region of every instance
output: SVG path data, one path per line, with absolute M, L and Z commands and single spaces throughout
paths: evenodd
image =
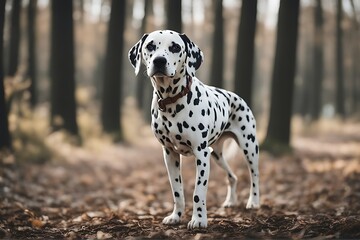
M 340 117 L 345 117 L 344 99 L 344 60 L 343 60 L 343 30 L 342 30 L 342 0 L 336 5 L 336 99 L 335 109 Z

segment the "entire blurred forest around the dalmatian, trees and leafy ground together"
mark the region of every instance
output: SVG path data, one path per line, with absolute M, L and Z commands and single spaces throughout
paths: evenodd
M 358 0 L 1 0 L 0 237 L 359 238 L 359 24 Z M 205 55 L 197 77 L 251 106 L 258 212 L 215 210 L 214 168 L 209 230 L 161 225 L 152 87 L 127 59 L 158 29 L 186 33 Z

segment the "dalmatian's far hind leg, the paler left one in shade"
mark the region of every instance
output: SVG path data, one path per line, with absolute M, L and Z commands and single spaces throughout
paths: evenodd
M 237 193 L 236 193 L 236 186 L 237 186 L 237 177 L 230 169 L 229 164 L 224 159 L 222 154 L 224 141 L 227 139 L 226 136 L 222 136 L 215 144 L 212 145 L 212 157 L 214 158 L 215 162 L 225 170 L 227 174 L 227 194 L 224 203 L 222 204 L 223 207 L 234 207 L 238 203 Z

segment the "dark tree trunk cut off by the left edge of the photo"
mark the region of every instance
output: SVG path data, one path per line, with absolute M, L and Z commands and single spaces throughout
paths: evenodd
M 11 137 L 9 132 L 8 109 L 5 102 L 4 91 L 4 21 L 5 21 L 5 3 L 0 1 L 0 150 L 3 148 L 11 149 Z

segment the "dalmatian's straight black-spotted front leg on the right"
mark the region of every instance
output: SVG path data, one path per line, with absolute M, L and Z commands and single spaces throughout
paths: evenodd
M 196 180 L 193 194 L 193 214 L 188 229 L 207 227 L 206 193 L 210 173 L 210 150 L 208 147 L 194 153 L 196 157 Z

